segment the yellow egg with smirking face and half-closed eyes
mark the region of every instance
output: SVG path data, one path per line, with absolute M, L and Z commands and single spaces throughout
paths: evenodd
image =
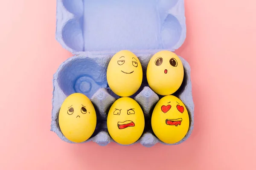
M 128 97 L 136 93 L 142 83 L 142 76 L 140 60 L 131 51 L 119 51 L 108 64 L 108 85 L 118 96 Z

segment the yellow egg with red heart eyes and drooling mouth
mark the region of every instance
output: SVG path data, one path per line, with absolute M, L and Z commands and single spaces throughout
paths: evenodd
M 164 96 L 157 102 L 151 117 L 154 134 L 161 141 L 174 144 L 189 130 L 189 113 L 183 102 L 175 96 Z

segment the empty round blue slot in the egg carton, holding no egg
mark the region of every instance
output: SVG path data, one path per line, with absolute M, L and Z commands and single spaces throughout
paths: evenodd
M 66 96 L 81 93 L 91 98 L 99 88 L 107 86 L 106 69 L 88 57 L 74 57 L 58 75 L 58 84 Z

